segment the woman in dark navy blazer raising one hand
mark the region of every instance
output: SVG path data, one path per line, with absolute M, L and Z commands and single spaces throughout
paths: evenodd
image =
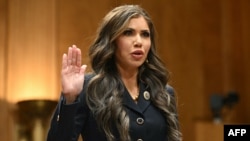
M 62 97 L 47 141 L 180 141 L 169 74 L 155 47 L 149 15 L 123 5 L 103 19 L 89 50 L 85 74 L 81 50 L 69 47 L 62 61 Z

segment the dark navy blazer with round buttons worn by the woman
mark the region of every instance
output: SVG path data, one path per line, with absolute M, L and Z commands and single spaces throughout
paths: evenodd
M 86 86 L 92 76 L 85 76 Z M 167 86 L 167 91 L 174 95 L 173 89 Z M 148 93 L 149 95 L 145 94 Z M 96 120 L 85 100 L 86 88 L 83 88 L 79 99 L 70 105 L 65 105 L 61 97 L 51 120 L 47 141 L 77 141 L 81 134 L 84 141 L 107 141 L 105 134 L 97 126 Z M 149 97 L 148 97 L 149 96 Z M 132 141 L 167 141 L 167 123 L 163 113 L 150 101 L 150 91 L 140 84 L 140 94 L 137 104 L 128 91 L 123 94 L 123 105 L 130 119 L 129 134 Z M 119 134 L 113 130 L 116 140 Z

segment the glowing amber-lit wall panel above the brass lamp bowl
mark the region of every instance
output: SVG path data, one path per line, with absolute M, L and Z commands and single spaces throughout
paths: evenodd
M 6 85 L 9 102 L 58 99 L 55 23 L 55 1 L 10 2 Z

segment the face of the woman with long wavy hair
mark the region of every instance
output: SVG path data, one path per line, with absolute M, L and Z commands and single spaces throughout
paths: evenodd
M 124 32 L 116 39 L 116 46 L 115 58 L 118 67 L 140 67 L 145 62 L 151 46 L 146 20 L 142 16 L 132 18 Z

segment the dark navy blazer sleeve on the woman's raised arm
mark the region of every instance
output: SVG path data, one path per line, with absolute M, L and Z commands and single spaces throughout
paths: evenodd
M 84 85 L 87 85 L 87 82 L 84 82 Z M 64 104 L 64 97 L 61 96 L 51 119 L 47 141 L 78 140 L 80 133 L 84 130 L 90 113 L 86 104 L 85 95 L 86 88 L 84 87 L 78 99 L 69 105 Z

